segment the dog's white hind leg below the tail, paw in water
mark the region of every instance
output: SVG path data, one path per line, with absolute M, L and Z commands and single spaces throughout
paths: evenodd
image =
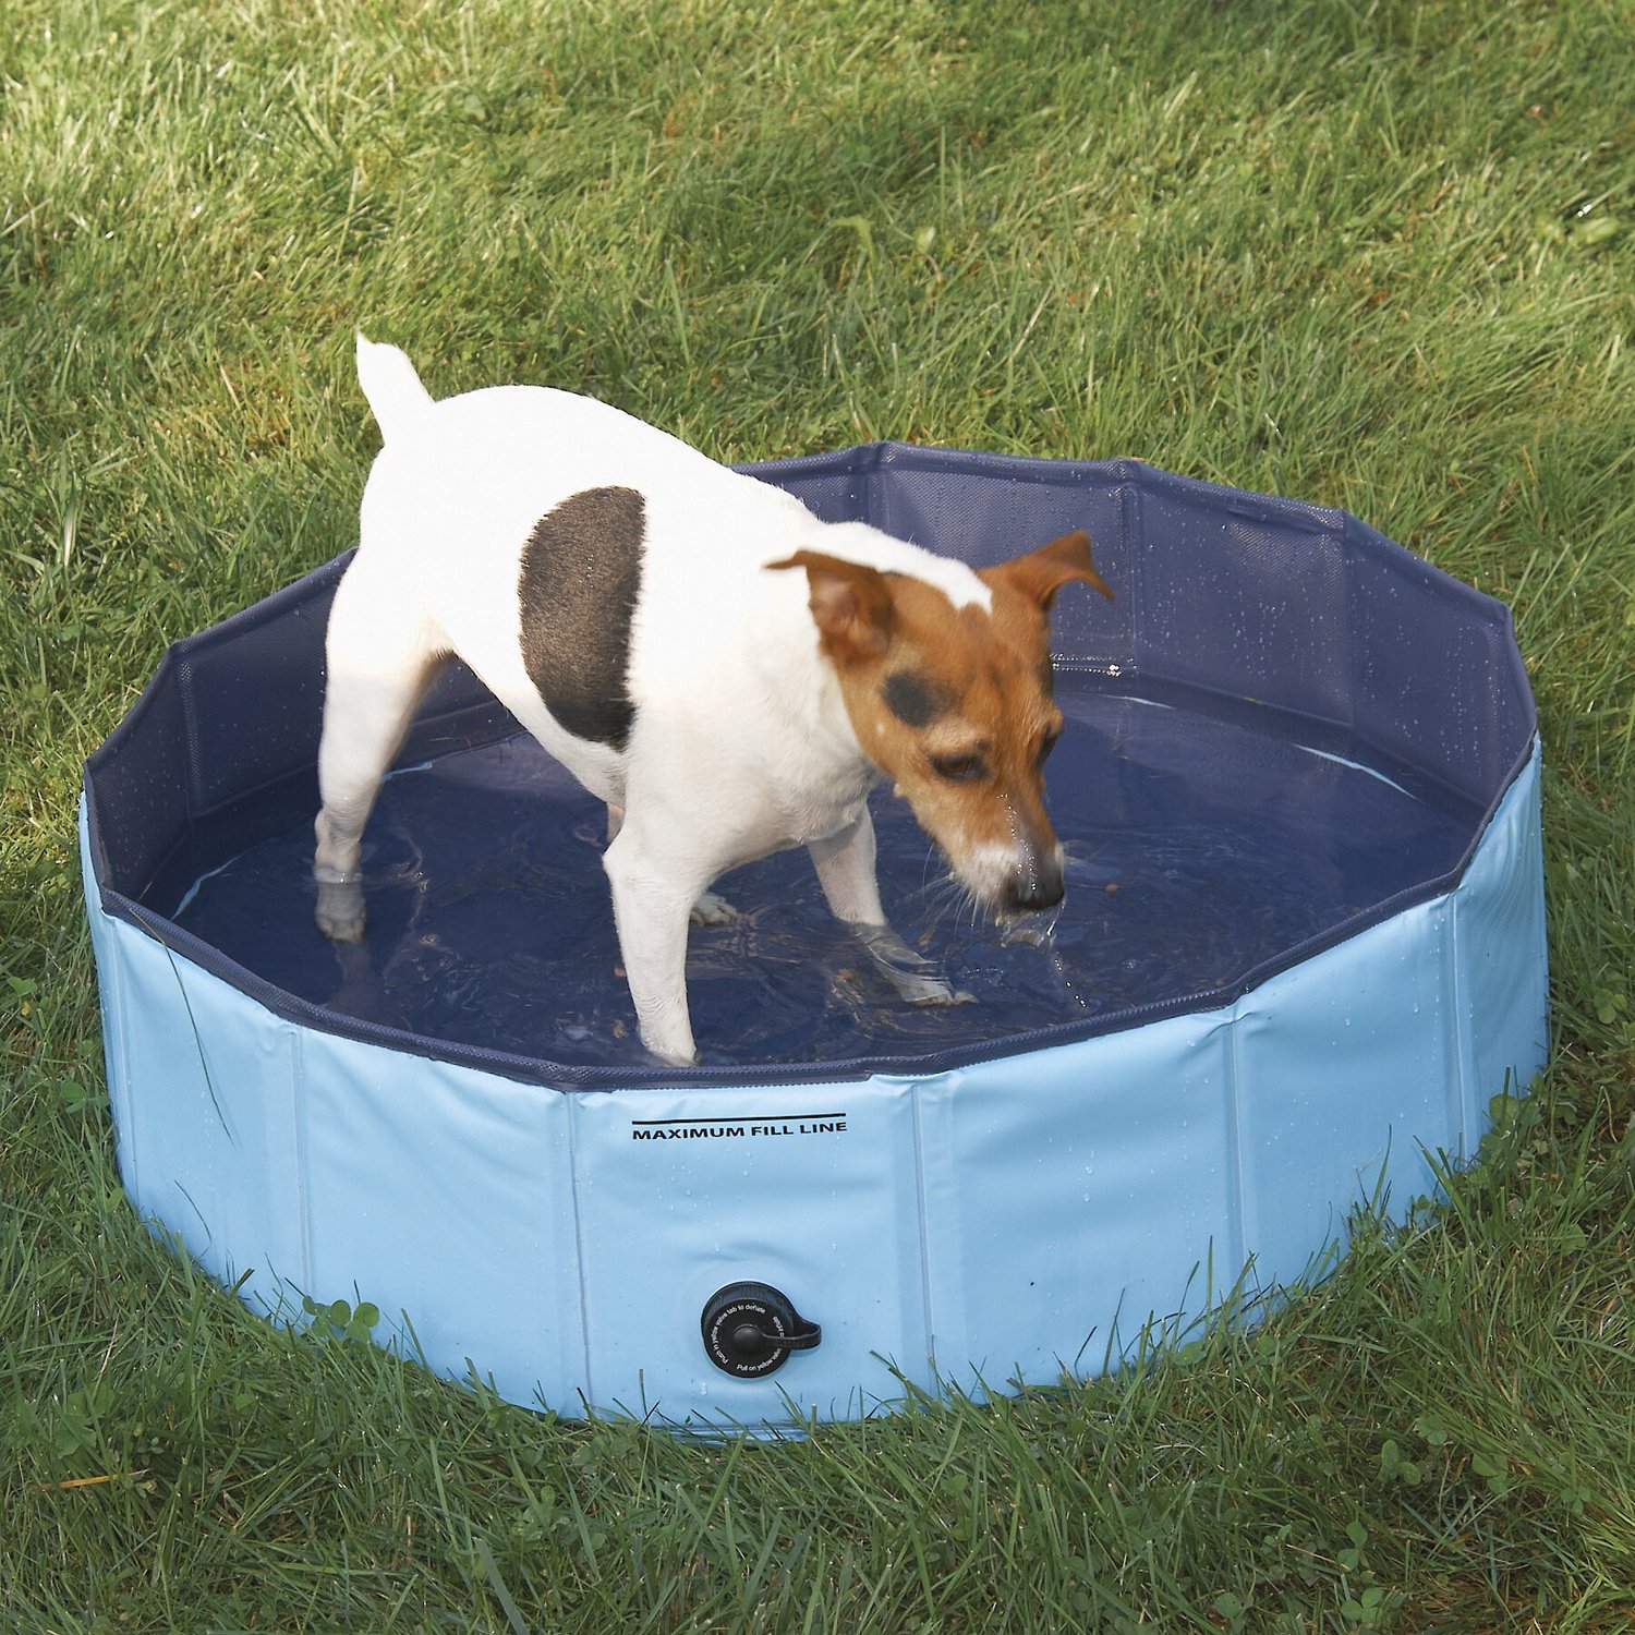
M 314 917 L 337 942 L 363 937 L 363 826 L 415 706 L 446 662 L 423 613 L 392 595 L 379 574 L 360 574 L 363 562 L 355 559 L 330 610 L 317 755 Z

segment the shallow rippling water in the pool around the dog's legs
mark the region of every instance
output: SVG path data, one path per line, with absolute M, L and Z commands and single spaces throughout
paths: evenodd
M 970 996 L 899 1002 L 835 925 L 804 852 L 718 891 L 687 981 L 706 1064 L 981 1043 L 1225 988 L 1452 870 L 1480 813 L 1367 765 L 1342 737 L 1251 706 L 1151 701 L 1058 680 L 1069 718 L 1048 795 L 1068 896 L 1048 925 L 973 919 L 907 808 L 875 798 L 886 911 Z M 392 777 L 365 844 L 370 930 L 312 924 L 311 813 L 150 906 L 316 1004 L 423 1038 L 567 1064 L 646 1063 L 600 867 L 600 806 L 531 739 Z

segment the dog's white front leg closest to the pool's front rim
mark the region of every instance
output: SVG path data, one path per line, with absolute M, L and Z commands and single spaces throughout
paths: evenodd
M 626 824 L 602 858 L 613 888 L 613 925 L 641 1041 L 674 1066 L 697 1059 L 687 1009 L 688 914 L 703 889 L 685 871 L 659 865 Z

